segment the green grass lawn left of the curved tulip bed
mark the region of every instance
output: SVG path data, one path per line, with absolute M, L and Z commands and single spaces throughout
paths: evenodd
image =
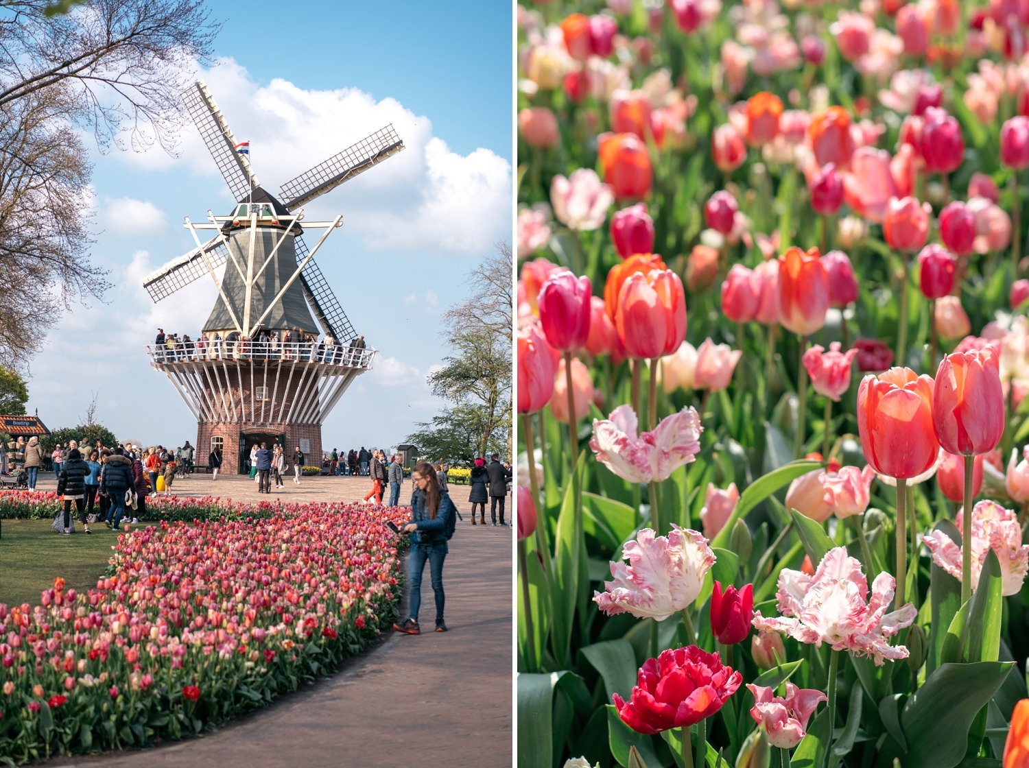
M 75 523 L 73 536 L 61 536 L 50 520 L 4 520 L 0 536 L 0 602 L 36 605 L 39 593 L 61 576 L 65 589 L 84 592 L 97 586 L 107 570 L 117 534 L 102 522 L 90 526 L 91 536 Z

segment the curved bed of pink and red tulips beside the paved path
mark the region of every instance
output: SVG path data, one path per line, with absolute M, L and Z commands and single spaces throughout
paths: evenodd
M 364 505 L 120 535 L 96 589 L 0 605 L 0 763 L 200 733 L 324 675 L 396 618 L 395 541 Z

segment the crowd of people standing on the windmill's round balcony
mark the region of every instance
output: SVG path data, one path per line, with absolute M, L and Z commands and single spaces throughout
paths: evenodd
M 165 333 L 157 329 L 151 348 L 155 362 L 179 363 L 190 360 L 301 360 L 311 363 L 338 363 L 362 366 L 370 355 L 363 335 L 354 336 L 345 346 L 332 334 L 317 336 L 298 328 L 289 331 L 260 330 L 252 336 L 239 331 L 225 334 L 201 333 L 196 339 L 188 333 Z

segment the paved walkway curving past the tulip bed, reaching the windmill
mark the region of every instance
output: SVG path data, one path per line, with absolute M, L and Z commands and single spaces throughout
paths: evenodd
M 367 479 L 346 477 L 308 478 L 300 486 L 292 481 L 286 486 L 282 498 L 289 501 L 352 501 L 370 488 Z M 175 485 L 179 496 L 216 492 L 241 500 L 260 498 L 255 489 L 253 481 L 238 477 L 213 482 L 192 476 Z M 404 495 L 410 498 L 410 483 Z M 426 569 L 421 618 L 430 631 L 419 636 L 392 632 L 333 678 L 202 738 L 145 752 L 61 758 L 44 765 L 512 765 L 513 535 L 509 527 L 470 524 L 466 486 L 451 486 L 451 496 L 465 517 L 458 521 L 443 569 L 451 631 L 431 631 L 432 590 Z

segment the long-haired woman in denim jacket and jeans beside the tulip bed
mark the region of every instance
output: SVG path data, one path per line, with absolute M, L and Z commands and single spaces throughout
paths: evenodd
M 429 561 L 432 591 L 436 598 L 436 631 L 446 632 L 443 623 L 443 560 L 447 558 L 447 525 L 457 510 L 450 497 L 439 490 L 436 471 L 428 462 L 419 462 L 412 472 L 415 493 L 411 500 L 411 522 L 403 526 L 411 537 L 407 571 L 411 578 L 411 617 L 403 624 L 393 624 L 398 632 L 421 634 L 418 610 L 422 607 L 422 571 Z

